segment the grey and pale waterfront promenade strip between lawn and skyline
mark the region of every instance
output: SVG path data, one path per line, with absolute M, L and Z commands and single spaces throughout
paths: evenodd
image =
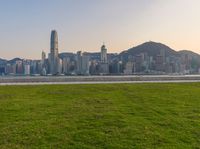
M 0 85 L 200 82 L 200 75 L 3 76 Z

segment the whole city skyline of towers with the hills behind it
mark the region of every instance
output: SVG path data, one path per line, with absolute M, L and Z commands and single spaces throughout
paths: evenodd
M 191 51 L 176 52 L 168 46 L 146 42 L 120 54 L 107 53 L 103 44 L 98 53 L 77 51 L 59 53 L 59 36 L 51 31 L 49 53 L 42 51 L 40 60 L 0 61 L 0 75 L 132 75 L 132 74 L 199 74 L 200 55 Z M 46 56 L 48 55 L 48 56 Z

